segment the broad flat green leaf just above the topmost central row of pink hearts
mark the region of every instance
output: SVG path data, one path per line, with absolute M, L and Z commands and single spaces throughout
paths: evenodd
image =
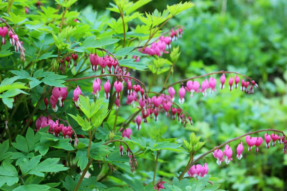
M 82 44 L 85 48 L 98 48 L 108 44 L 114 44 L 120 39 L 112 39 L 112 36 L 104 36 L 103 38 L 96 39 L 96 36 L 89 36 Z

